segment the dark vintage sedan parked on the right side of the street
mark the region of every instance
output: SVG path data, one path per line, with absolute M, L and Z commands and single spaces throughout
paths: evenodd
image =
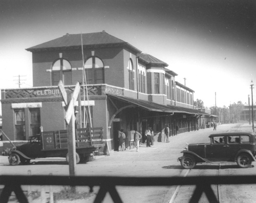
M 178 158 L 181 166 L 191 169 L 197 163 L 237 162 L 248 168 L 255 160 L 255 134 L 251 132 L 228 132 L 211 134 L 210 143 L 188 144 Z

